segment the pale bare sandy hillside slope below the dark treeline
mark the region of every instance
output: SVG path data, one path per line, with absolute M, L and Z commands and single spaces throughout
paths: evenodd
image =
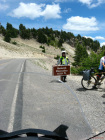
M 13 44 L 16 43 L 16 45 Z M 40 46 L 45 46 L 45 53 L 42 52 Z M 70 62 L 73 62 L 73 56 L 75 48 L 64 43 L 63 48 L 67 51 L 67 56 Z M 57 55 L 61 55 L 61 50 L 53 46 L 47 46 L 46 44 L 40 44 L 35 39 L 24 40 L 20 37 L 13 38 L 11 43 L 7 43 L 3 40 L 3 36 L 0 36 L 0 58 L 37 58 L 35 63 L 46 68 L 52 69 L 52 65 L 57 63 L 54 59 Z

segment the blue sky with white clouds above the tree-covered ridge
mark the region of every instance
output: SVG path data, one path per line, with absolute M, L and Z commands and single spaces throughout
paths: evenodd
M 0 22 L 49 27 L 90 37 L 105 45 L 105 0 L 0 0 Z

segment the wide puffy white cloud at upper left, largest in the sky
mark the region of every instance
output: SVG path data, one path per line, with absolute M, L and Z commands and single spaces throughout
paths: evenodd
M 25 4 L 21 2 L 19 7 L 14 9 L 11 13 L 9 13 L 12 17 L 26 17 L 30 19 L 35 19 L 43 16 L 45 19 L 50 18 L 60 18 L 60 6 L 59 4 L 53 5 L 45 5 L 45 4 L 36 4 L 36 3 L 28 3 Z

